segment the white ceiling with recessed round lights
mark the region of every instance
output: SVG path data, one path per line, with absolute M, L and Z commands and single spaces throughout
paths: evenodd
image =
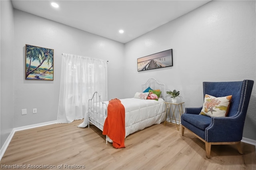
M 210 0 L 12 0 L 12 5 L 117 42 L 129 42 Z M 51 6 L 56 2 L 59 8 Z M 123 34 L 118 31 L 124 30 Z

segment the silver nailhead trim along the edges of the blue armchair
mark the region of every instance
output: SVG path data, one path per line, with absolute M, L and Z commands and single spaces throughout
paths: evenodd
M 244 99 L 245 99 L 245 94 L 246 94 L 246 89 L 247 89 L 247 83 L 248 83 L 248 81 L 246 80 L 245 89 L 244 89 L 244 83 L 245 83 L 245 82 L 243 82 L 242 93 L 241 93 L 240 103 L 239 103 L 239 107 L 238 107 L 238 112 L 240 111 L 240 113 L 238 114 L 238 112 L 237 112 L 236 115 L 234 115 L 233 117 L 221 117 L 221 118 L 218 117 L 218 119 L 234 119 L 234 118 L 239 117 L 239 116 L 241 115 L 241 113 L 242 113 L 242 108 L 244 107 Z M 243 93 L 244 93 L 244 97 L 243 97 L 243 101 L 242 101 Z M 241 104 L 242 104 L 242 107 L 241 107 Z M 215 118 L 212 117 L 211 123 L 210 123 L 210 127 L 206 127 L 206 128 L 205 128 L 205 131 L 206 131 L 206 133 L 205 133 L 205 140 L 206 140 L 206 142 L 208 142 L 208 130 L 213 127 L 213 125 L 214 125 L 214 119 L 215 119 Z

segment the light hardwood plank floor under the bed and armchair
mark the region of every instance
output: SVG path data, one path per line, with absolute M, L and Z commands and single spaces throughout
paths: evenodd
M 235 145 L 213 145 L 208 159 L 204 142 L 186 130 L 181 136 L 172 125 L 164 127 L 162 123 L 127 136 L 126 148 L 116 149 L 105 143 L 96 127 L 76 127 L 81 122 L 16 132 L 0 169 L 18 165 L 59 169 L 63 164 L 63 169 L 86 170 L 256 170 L 255 146 L 251 144 L 241 144 L 243 155 Z

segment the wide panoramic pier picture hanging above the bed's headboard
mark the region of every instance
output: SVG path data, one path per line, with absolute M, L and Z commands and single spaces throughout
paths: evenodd
M 137 59 L 138 71 L 172 66 L 172 49 Z

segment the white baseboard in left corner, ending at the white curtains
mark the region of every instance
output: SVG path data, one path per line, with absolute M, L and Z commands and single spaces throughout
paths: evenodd
M 8 138 L 4 142 L 3 147 L 0 150 L 0 160 L 2 160 L 2 157 L 4 156 L 4 153 L 5 153 L 8 145 L 10 144 L 10 142 L 12 140 L 12 137 L 13 137 L 15 132 L 20 131 L 20 130 L 30 129 L 30 128 L 36 128 L 36 127 L 42 127 L 42 126 L 46 126 L 46 125 L 52 125 L 52 124 L 56 124 L 56 123 L 57 123 L 57 121 L 50 121 L 50 122 L 45 122 L 45 123 L 38 123 L 38 124 L 34 124 L 34 125 L 28 125 L 28 126 L 24 126 L 24 127 L 13 128 L 12 132 L 9 134 Z

